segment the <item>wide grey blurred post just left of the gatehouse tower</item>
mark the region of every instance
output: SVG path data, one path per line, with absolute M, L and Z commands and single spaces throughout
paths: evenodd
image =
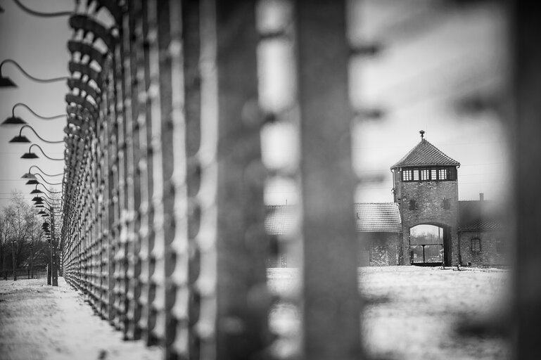
M 361 359 L 345 1 L 296 2 L 303 359 Z

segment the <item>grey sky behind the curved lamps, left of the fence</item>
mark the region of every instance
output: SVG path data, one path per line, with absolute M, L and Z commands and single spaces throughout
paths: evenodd
M 23 1 L 28 7 L 42 12 L 70 11 L 74 2 L 70 0 Z M 13 1 L 2 0 L 0 6 L 0 58 L 17 61 L 30 75 L 42 79 L 68 76 L 69 53 L 66 47 L 71 32 L 68 16 L 61 18 L 37 18 L 24 13 Z M 65 82 L 39 84 L 24 77 L 12 64 L 2 67 L 2 75 L 10 77 L 18 84 L 17 88 L 0 88 L 0 122 L 11 116 L 15 103 L 27 104 L 35 113 L 53 116 L 65 113 L 64 96 L 68 91 Z M 15 115 L 23 118 L 42 138 L 51 141 L 63 139 L 65 118 L 41 120 L 22 107 L 15 109 Z M 18 129 L 0 127 L 0 207 L 8 204 L 12 190 L 28 194 L 32 186 L 24 185 L 20 179 L 31 165 L 37 165 L 44 172 L 58 174 L 63 172 L 63 162 L 51 161 L 32 149 L 40 157 L 36 160 L 20 159 L 29 144 L 12 144 L 8 141 L 18 133 Z M 24 129 L 23 135 L 30 141 L 42 146 L 51 158 L 63 157 L 63 144 L 48 145 L 39 141 L 30 129 Z M 32 172 L 36 172 L 32 169 Z M 46 178 L 49 182 L 60 182 L 61 177 Z M 57 186 L 58 190 L 60 189 Z M 32 198 L 27 195 L 27 198 Z

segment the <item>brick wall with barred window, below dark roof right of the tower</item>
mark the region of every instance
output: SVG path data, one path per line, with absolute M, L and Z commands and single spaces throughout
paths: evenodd
M 480 252 L 471 252 L 471 240 L 474 238 L 480 240 Z M 472 266 L 509 264 L 507 244 L 499 231 L 461 231 L 459 243 L 463 266 L 469 263 Z

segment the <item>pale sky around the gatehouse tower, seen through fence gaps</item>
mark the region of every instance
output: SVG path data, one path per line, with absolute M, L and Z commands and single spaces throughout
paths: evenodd
M 352 42 L 382 45 L 378 56 L 352 60 L 350 66 L 353 107 L 384 112 L 381 120 L 354 126 L 358 202 L 393 201 L 389 168 L 421 140 L 420 130 L 461 163 L 459 200 L 476 200 L 479 193 L 488 200 L 505 198 L 505 119 L 493 110 L 472 114 L 457 106 L 467 96 L 502 93 L 507 74 L 502 9 L 490 1 L 451 3 L 364 0 L 350 8 Z M 294 148 L 291 141 L 286 144 Z M 294 189 L 281 182 L 271 184 L 266 198 L 276 204 L 297 201 Z

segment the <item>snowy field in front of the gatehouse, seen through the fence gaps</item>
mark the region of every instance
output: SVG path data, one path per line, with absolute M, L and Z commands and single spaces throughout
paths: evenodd
M 269 288 L 291 295 L 298 287 L 297 269 L 269 269 Z M 499 338 L 457 333 L 461 321 L 497 314 L 508 295 L 509 271 L 438 267 L 385 266 L 359 268 L 366 299 L 362 338 L 375 359 L 507 359 Z M 277 305 L 271 326 L 279 333 L 298 329 L 298 311 Z M 285 343 L 287 346 L 287 343 Z

